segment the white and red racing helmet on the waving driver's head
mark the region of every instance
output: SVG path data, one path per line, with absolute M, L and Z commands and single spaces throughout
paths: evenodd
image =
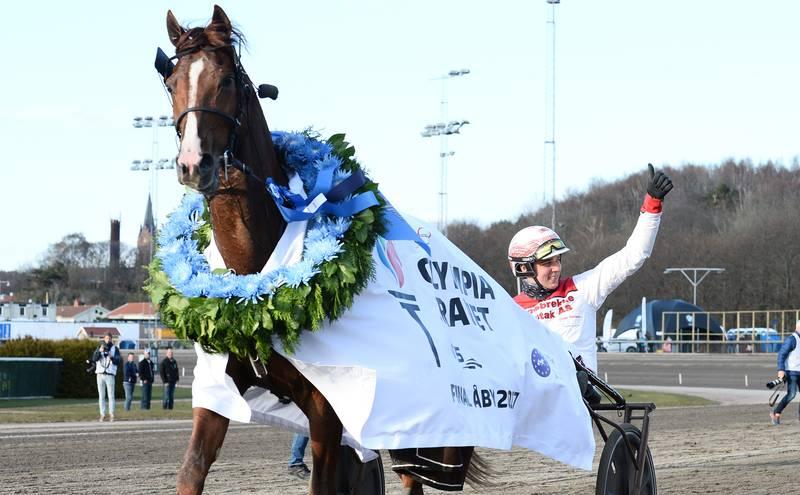
M 566 253 L 564 241 L 547 227 L 534 225 L 517 232 L 508 245 L 508 262 L 515 277 L 534 277 L 533 264 Z

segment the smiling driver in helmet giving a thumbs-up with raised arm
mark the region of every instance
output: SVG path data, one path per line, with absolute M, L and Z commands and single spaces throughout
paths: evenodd
M 606 297 L 643 264 L 653 251 L 661 222 L 661 203 L 672 181 L 648 164 L 650 182 L 633 234 L 620 251 L 595 268 L 561 277 L 561 255 L 569 248 L 547 227 L 526 227 L 508 246 L 514 276 L 521 291 L 514 300 L 567 342 L 573 356 L 597 371 L 597 309 Z

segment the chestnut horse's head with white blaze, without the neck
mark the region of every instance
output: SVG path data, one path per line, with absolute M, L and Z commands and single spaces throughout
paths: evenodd
M 167 12 L 167 32 L 177 59 L 165 84 L 180 137 L 178 181 L 211 196 L 227 173 L 246 99 L 254 93 L 235 49 L 241 35 L 218 6 L 204 28 L 186 29 Z

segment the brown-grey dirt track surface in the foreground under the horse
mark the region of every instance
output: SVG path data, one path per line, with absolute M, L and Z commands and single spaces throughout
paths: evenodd
M 766 404 L 657 410 L 650 445 L 659 493 L 777 493 L 797 480 L 796 407 L 790 404 L 778 427 L 769 425 Z M 0 493 L 173 493 L 189 428 L 187 421 L 0 425 Z M 206 493 L 307 493 L 286 475 L 290 440 L 275 428 L 232 425 Z M 601 448 L 598 438 L 595 467 Z M 497 474 L 494 486 L 477 493 L 594 493 L 595 472 L 523 450 L 481 452 Z M 387 493 L 399 493 L 385 455 L 384 465 Z

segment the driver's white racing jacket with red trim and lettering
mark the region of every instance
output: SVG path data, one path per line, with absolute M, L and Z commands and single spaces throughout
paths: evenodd
M 550 330 L 561 334 L 570 351 L 597 370 L 597 310 L 609 294 L 650 257 L 661 223 L 661 201 L 647 195 L 628 242 L 595 268 L 562 279 L 546 299 L 520 293 L 514 300 Z

